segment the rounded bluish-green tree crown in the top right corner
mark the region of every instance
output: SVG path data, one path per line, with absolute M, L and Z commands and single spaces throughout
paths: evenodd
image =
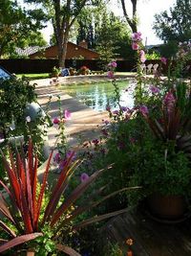
M 191 1 L 177 0 L 170 12 L 155 15 L 154 30 L 165 42 L 187 41 L 191 38 Z

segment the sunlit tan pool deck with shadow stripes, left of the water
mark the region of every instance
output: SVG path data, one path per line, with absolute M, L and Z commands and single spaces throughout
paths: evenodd
M 60 80 L 60 79 L 59 79 Z M 49 114 L 51 118 L 59 115 L 59 105 L 57 96 L 60 96 L 62 109 L 68 109 L 72 113 L 72 119 L 66 122 L 66 134 L 68 137 L 69 145 L 76 148 L 79 141 L 92 140 L 100 133 L 102 120 L 108 118 L 108 113 L 98 112 L 91 109 L 87 105 L 79 103 L 77 100 L 66 94 L 59 85 L 50 84 L 50 79 L 31 81 L 35 83 L 35 92 L 37 94 L 37 101 L 43 109 L 46 109 L 49 102 L 50 95 L 53 96 L 50 104 Z M 59 81 L 63 83 L 62 81 Z M 53 147 L 58 129 L 56 126 L 48 129 L 48 146 Z

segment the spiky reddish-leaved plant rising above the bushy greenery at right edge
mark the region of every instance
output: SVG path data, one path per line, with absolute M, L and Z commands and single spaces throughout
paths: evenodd
M 177 151 L 191 157 L 191 92 L 187 92 L 187 87 L 180 82 L 165 94 L 158 119 L 149 112 L 143 113 L 143 117 L 157 139 L 164 143 L 174 141 Z

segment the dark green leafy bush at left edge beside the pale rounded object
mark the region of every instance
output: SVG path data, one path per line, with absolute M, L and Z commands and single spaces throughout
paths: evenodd
M 36 100 L 34 86 L 25 80 L 1 80 L 0 96 L 0 128 L 4 137 L 23 134 L 26 105 Z

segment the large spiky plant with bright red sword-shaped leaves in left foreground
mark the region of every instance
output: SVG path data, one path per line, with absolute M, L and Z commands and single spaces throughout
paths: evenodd
M 65 227 L 65 234 L 67 235 L 66 227 L 68 227 L 74 218 L 85 211 L 90 210 L 92 207 L 95 207 L 103 200 L 115 196 L 120 191 L 126 190 L 122 189 L 109 196 L 105 196 L 98 201 L 93 200 L 93 196 L 92 200 L 90 199 L 85 205 L 75 205 L 75 201 L 80 198 L 96 178 L 104 172 L 104 169 L 102 169 L 96 171 L 86 181 L 81 182 L 68 197 L 62 199 L 62 195 L 68 187 L 69 180 L 74 174 L 74 169 L 79 164 L 78 160 L 73 162 L 74 153 L 72 153 L 66 160 L 66 164 L 53 186 L 51 196 L 43 210 L 43 198 L 46 194 L 52 157 L 53 151 L 48 159 L 42 183 L 39 184 L 37 180 L 38 159 L 32 149 L 32 140 L 29 141 L 28 161 L 26 161 L 23 151 L 21 151 L 21 153 L 17 151 L 16 159 L 14 160 L 13 153 L 10 150 L 10 162 L 3 155 L 3 162 L 9 181 L 8 185 L 6 185 L 5 182 L 0 180 L 1 186 L 5 189 L 8 195 L 8 197 L 4 197 L 3 194 L 0 193 L 0 213 L 11 223 L 10 226 L 13 225 L 14 228 L 11 228 L 4 219 L 2 219 L 3 221 L 0 221 L 0 228 L 2 228 L 10 237 L 10 240 L 0 240 L 0 253 L 13 246 L 25 244 L 37 237 L 44 236 L 43 227 L 48 225 L 51 230 L 53 230 L 52 239 L 55 242 L 57 249 L 62 250 L 69 255 L 79 255 L 71 247 L 57 244 L 56 239 L 59 236 L 60 230 Z M 111 167 L 112 166 L 108 166 L 107 169 Z M 100 192 L 101 189 L 97 194 Z M 70 210 L 70 215 L 66 218 L 68 210 Z M 95 221 L 101 221 L 116 216 L 117 214 L 126 211 L 127 209 L 124 209 L 91 218 L 86 221 L 81 221 L 76 223 L 72 227 L 72 230 L 81 228 Z M 69 231 L 71 231 L 71 229 Z

